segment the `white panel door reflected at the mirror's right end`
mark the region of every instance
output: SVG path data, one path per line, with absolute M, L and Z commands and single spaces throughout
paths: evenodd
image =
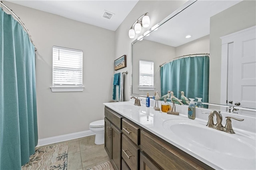
M 233 104 L 256 109 L 255 27 L 234 35 L 233 40 Z

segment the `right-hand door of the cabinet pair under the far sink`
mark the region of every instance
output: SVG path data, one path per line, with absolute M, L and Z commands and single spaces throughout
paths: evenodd
M 111 125 L 112 136 L 112 159 L 111 162 L 115 169 L 121 170 L 121 135 L 122 132 L 114 125 Z M 116 166 L 116 167 L 115 167 Z

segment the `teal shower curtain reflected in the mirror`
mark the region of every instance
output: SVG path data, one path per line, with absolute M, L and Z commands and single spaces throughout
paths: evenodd
M 161 95 L 170 90 L 180 99 L 179 91 L 184 91 L 187 98 L 200 97 L 208 102 L 209 56 L 184 57 L 166 63 L 160 68 L 160 76 Z

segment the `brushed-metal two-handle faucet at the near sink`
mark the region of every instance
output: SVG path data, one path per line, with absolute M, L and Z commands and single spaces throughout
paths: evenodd
M 205 113 L 205 112 L 201 111 L 201 113 Z M 214 124 L 214 121 L 213 121 L 214 115 L 216 115 L 216 121 L 217 121 L 216 124 Z M 235 118 L 235 117 L 226 117 L 227 118 L 226 125 L 225 125 L 225 127 L 223 127 L 223 125 L 222 125 L 222 115 L 220 114 L 220 111 L 211 111 L 209 113 L 208 118 L 209 118 L 208 123 L 206 125 L 207 127 L 215 128 L 217 130 L 221 130 L 221 131 L 232 133 L 232 134 L 234 134 L 235 132 L 232 128 L 230 118 L 235 119 L 237 121 L 244 121 L 244 119 L 238 119 L 238 118 Z

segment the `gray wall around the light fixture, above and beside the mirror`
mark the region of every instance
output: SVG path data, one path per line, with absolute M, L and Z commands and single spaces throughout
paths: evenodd
M 131 43 L 141 36 L 144 32 L 152 28 L 155 24 L 166 18 L 172 12 L 174 12 L 177 8 L 182 6 L 186 0 L 140 0 L 136 6 L 132 9 L 132 11 L 128 14 L 122 24 L 116 30 L 116 43 L 115 43 L 115 58 L 121 57 L 126 54 L 127 57 L 127 68 L 120 69 L 116 72 L 126 71 L 129 73 L 127 75 L 127 82 L 125 83 L 124 95 L 125 100 L 128 101 L 131 94 Z M 142 28 L 142 32 L 140 34 L 136 34 L 134 39 L 130 39 L 128 36 L 128 31 L 131 28 L 132 24 L 136 21 L 136 19 L 142 14 L 148 12 L 148 16 L 150 17 L 150 26 L 148 28 Z

